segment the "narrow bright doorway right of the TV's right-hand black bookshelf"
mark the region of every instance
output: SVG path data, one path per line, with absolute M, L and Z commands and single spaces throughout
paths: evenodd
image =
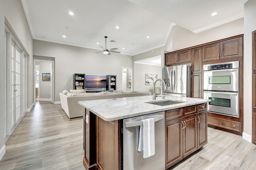
M 124 92 L 132 90 L 132 68 L 122 67 L 122 90 Z

